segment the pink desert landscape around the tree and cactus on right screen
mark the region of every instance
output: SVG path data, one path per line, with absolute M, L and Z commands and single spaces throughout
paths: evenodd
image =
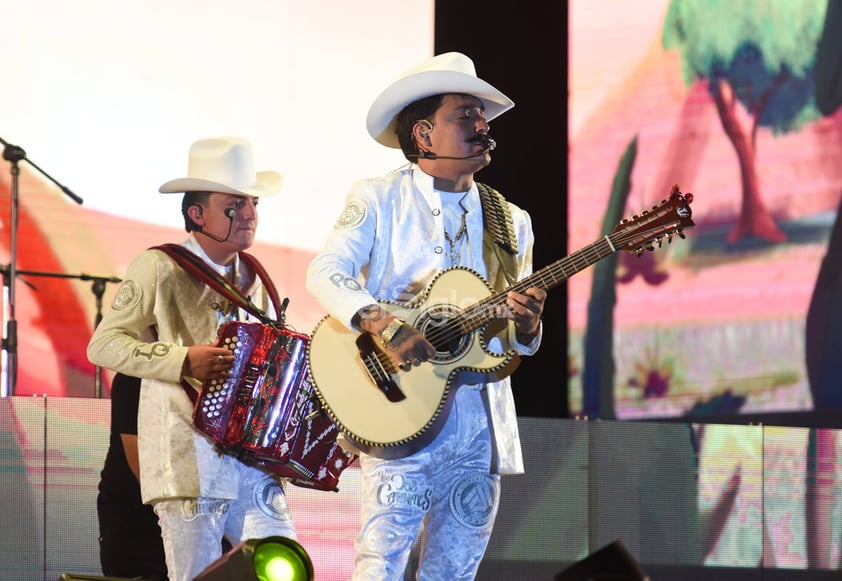
M 664 199 L 673 184 L 695 198 L 697 226 L 686 240 L 620 260 L 618 278 L 642 271 L 664 282 L 636 276 L 617 285 L 617 417 L 682 415 L 726 394 L 744 397 L 744 412 L 811 410 L 804 323 L 842 193 L 842 116 L 784 135 L 757 133 L 770 212 L 778 224 L 810 224 L 818 234 L 729 246 L 741 201 L 736 154 L 706 88 L 687 86 L 680 54 L 661 45 L 667 5 L 583 1 L 570 11 L 569 248 L 599 238 L 614 172 L 633 138 L 627 216 Z M 569 282 L 574 412 L 592 274 Z M 653 377 L 657 385 L 647 385 Z

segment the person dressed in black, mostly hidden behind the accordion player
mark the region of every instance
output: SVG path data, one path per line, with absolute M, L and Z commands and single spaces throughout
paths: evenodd
M 111 384 L 111 437 L 97 495 L 99 560 L 104 575 L 166 581 L 158 517 L 140 499 L 137 405 L 140 379 L 118 373 Z

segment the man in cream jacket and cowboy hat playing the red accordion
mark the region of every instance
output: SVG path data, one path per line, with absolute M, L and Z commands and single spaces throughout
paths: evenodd
M 193 143 L 187 177 L 160 187 L 184 192 L 190 235 L 181 246 L 270 316 L 276 313 L 264 281 L 238 253 L 254 242 L 258 201 L 278 193 L 281 182 L 276 172 L 255 171 L 247 141 L 221 137 Z M 88 345 L 94 364 L 142 380 L 141 493 L 158 515 L 170 581 L 192 580 L 216 561 L 223 536 L 232 544 L 295 538 L 281 480 L 218 453 L 195 428 L 182 384 L 228 377 L 234 356 L 215 344 L 217 330 L 249 317 L 168 254 L 148 249 L 130 264 Z

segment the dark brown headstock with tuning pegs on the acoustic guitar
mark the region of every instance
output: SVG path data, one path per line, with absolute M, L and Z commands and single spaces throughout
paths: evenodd
M 690 209 L 692 202 L 693 194 L 682 194 L 675 185 L 669 198 L 620 222 L 609 239 L 617 250 L 642 254 L 644 250 L 654 250 L 656 243 L 660 247 L 664 240 L 672 242 L 673 236 L 684 238 L 684 230 L 696 225 Z

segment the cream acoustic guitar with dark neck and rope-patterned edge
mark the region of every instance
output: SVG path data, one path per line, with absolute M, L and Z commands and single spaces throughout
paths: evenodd
M 435 356 L 401 371 L 379 337 L 356 333 L 331 316 L 313 331 L 307 352 L 313 387 L 323 409 L 362 451 L 401 458 L 428 444 L 447 419 L 451 394 L 463 384 L 498 381 L 520 363 L 514 350 L 494 353 L 489 338 L 501 330 L 496 317 L 510 290 L 549 290 L 588 266 L 624 250 L 654 250 L 692 228 L 693 194 L 674 186 L 668 199 L 623 220 L 611 234 L 562 258 L 511 287 L 494 292 L 475 271 L 454 267 L 438 274 L 412 303 L 380 307 L 415 327 Z

